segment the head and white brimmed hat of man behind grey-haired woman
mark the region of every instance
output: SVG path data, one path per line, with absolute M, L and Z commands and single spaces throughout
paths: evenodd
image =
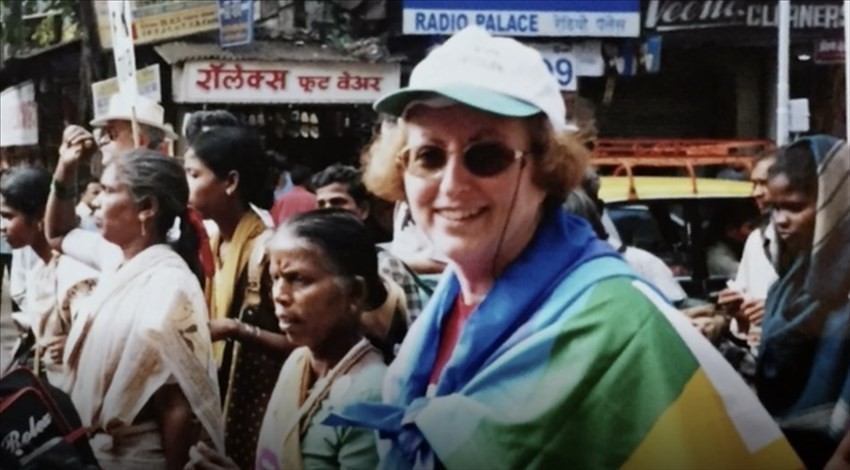
M 106 115 L 91 122 L 103 129 L 100 150 L 103 164 L 128 150 L 136 148 L 133 142 L 133 106 L 139 127 L 139 147 L 166 152 L 166 139 L 177 140 L 178 136 L 170 124 L 165 122 L 165 110 L 156 101 L 144 96 L 129 96 L 118 93 L 109 100 Z

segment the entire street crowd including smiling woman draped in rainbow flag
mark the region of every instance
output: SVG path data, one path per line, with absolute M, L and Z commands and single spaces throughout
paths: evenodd
M 103 468 L 850 468 L 845 142 L 759 156 L 764 223 L 719 234 L 741 373 L 609 236 L 533 48 L 467 28 L 375 109 L 362 168 L 286 182 L 226 111 L 175 158 L 162 108 L 121 95 L 52 175 L 4 171 L 2 231 L 35 259 L 18 323 Z

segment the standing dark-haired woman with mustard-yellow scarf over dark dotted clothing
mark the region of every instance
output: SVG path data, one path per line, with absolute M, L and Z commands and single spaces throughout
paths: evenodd
M 189 204 L 218 226 L 211 238 L 216 272 L 207 286 L 210 332 L 227 452 L 249 468 L 274 378 L 291 349 L 274 316 L 264 252 L 271 230 L 251 210 L 272 204 L 266 153 L 250 130 L 218 127 L 198 135 L 184 159 Z

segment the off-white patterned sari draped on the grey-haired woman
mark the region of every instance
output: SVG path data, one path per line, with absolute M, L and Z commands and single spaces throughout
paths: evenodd
M 68 334 L 64 389 L 93 433 L 104 468 L 164 468 L 162 435 L 149 403 L 176 384 L 224 451 L 221 405 L 198 280 L 166 245 L 102 275 Z

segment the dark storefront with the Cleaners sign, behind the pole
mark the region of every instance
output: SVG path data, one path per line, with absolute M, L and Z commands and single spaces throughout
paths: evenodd
M 641 42 L 663 44 L 655 75 L 580 82 L 611 137 L 774 138 L 777 2 L 645 0 Z M 823 38 L 841 37 L 837 0 L 791 4 L 791 98 L 808 98 L 811 132 L 831 132 L 843 98 L 840 66 L 813 60 Z M 613 90 L 612 90 L 613 89 Z M 604 99 L 605 95 L 608 99 Z M 842 95 L 843 96 L 843 95 Z M 839 126 L 840 127 L 840 126 Z

